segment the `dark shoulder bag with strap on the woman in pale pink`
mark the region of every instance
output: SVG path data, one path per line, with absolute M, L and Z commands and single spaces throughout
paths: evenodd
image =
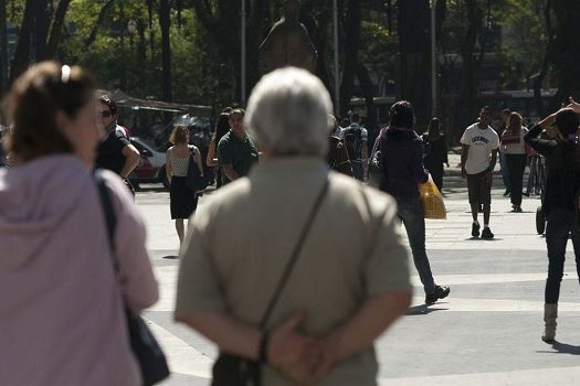
M 114 235 L 117 218 L 101 171 L 95 171 L 94 178 L 105 214 L 108 243 L 110 250 L 114 251 Z M 112 256 L 114 256 L 114 254 L 112 254 Z M 113 266 L 115 271 L 118 272 L 118 265 L 115 258 L 113 258 Z M 169 376 L 169 366 L 167 365 L 165 354 L 155 339 L 155 335 L 151 333 L 143 318 L 134 314 L 127 307 L 125 307 L 125 319 L 127 322 L 130 347 L 137 363 L 139 364 L 144 386 L 155 385 L 164 380 Z

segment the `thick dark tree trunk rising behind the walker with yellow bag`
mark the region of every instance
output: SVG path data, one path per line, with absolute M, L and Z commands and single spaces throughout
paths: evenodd
M 426 125 L 431 118 L 431 24 L 429 0 L 399 0 L 399 82 L 398 99 L 414 106 L 416 120 Z

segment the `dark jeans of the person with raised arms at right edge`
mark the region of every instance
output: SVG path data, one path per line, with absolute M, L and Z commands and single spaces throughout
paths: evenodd
M 560 297 L 560 282 L 563 276 L 563 260 L 568 234 L 572 232 L 576 255 L 576 270 L 580 277 L 580 233 L 574 226 L 574 212 L 553 207 L 548 213 L 546 244 L 548 245 L 548 280 L 546 280 L 546 303 L 555 304 Z

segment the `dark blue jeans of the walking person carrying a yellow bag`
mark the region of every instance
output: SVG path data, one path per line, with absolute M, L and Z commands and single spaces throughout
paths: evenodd
M 411 251 L 413 254 L 413 262 L 415 265 L 421 282 L 425 293 L 433 293 L 435 291 L 435 281 L 429 265 L 429 258 L 425 251 L 425 217 L 423 213 L 423 205 L 419 197 L 396 197 L 399 210 L 399 218 L 401 218 Z

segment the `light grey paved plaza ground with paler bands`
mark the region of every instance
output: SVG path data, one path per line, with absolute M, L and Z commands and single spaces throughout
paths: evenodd
M 452 160 L 454 162 L 455 160 Z M 452 165 L 453 167 L 453 165 Z M 380 385 L 578 385 L 580 384 L 580 289 L 571 246 L 560 297 L 557 343 L 540 340 L 546 243 L 535 229 L 537 197 L 524 213 L 494 189 L 494 240 L 471 238 L 466 190 L 456 170 L 445 189 L 446 221 L 428 221 L 426 239 L 435 280 L 451 294 L 434 305 L 413 269 L 415 296 L 408 314 L 377 342 Z M 207 196 L 200 205 L 207 201 Z M 137 194 L 146 218 L 161 299 L 145 313 L 173 372 L 166 386 L 208 385 L 215 347 L 173 323 L 177 236 L 169 197 L 160 190 Z M 482 221 L 481 221 L 482 222 Z

